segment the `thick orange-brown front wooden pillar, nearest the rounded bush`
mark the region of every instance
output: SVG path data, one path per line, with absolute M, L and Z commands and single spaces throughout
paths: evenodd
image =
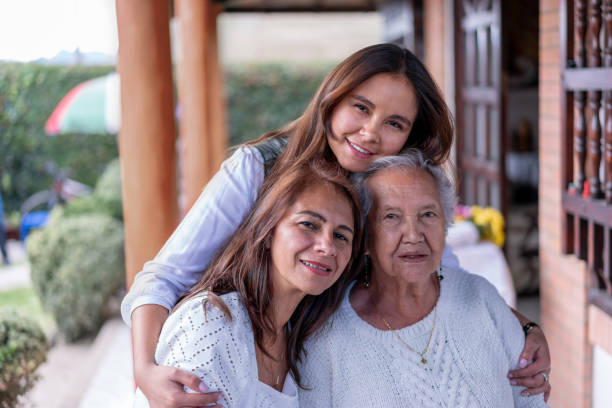
M 117 0 L 128 287 L 178 220 L 169 21 L 168 0 Z

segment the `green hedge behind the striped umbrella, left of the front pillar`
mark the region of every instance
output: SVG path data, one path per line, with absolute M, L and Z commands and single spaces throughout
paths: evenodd
M 5 212 L 50 187 L 45 164 L 70 169 L 70 177 L 93 185 L 104 165 L 117 157 L 115 135 L 48 136 L 45 122 L 77 84 L 114 67 L 0 63 L 0 191 Z

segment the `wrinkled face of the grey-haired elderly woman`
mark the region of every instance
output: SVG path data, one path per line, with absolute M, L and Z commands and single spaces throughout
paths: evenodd
M 423 170 L 390 169 L 367 183 L 373 199 L 368 214 L 372 277 L 425 282 L 440 265 L 445 238 L 433 176 Z

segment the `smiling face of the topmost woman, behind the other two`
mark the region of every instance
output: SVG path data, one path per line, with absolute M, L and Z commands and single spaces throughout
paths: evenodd
M 327 142 L 343 168 L 353 173 L 365 171 L 374 160 L 400 152 L 417 109 L 408 79 L 374 75 L 334 108 Z

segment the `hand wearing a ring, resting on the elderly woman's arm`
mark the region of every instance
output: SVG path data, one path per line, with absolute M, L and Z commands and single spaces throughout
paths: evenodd
M 544 401 L 550 396 L 550 353 L 544 332 L 534 327 L 525 337 L 525 348 L 519 360 L 519 369 L 508 372 L 510 383 L 526 387 L 521 394 L 535 395 L 544 393 Z M 542 375 L 545 373 L 546 375 Z

